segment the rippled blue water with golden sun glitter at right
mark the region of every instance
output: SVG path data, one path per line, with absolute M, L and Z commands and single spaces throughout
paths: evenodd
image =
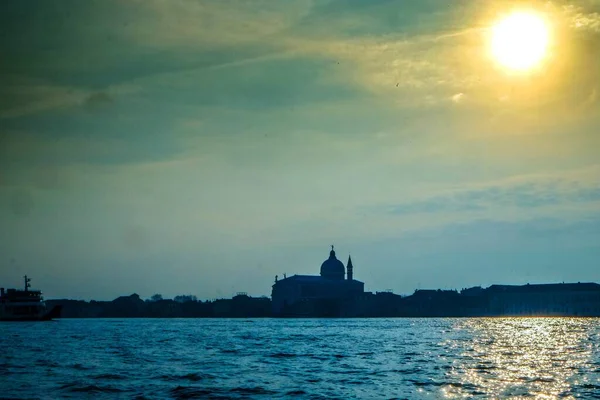
M 600 319 L 0 323 L 0 397 L 600 398 Z

